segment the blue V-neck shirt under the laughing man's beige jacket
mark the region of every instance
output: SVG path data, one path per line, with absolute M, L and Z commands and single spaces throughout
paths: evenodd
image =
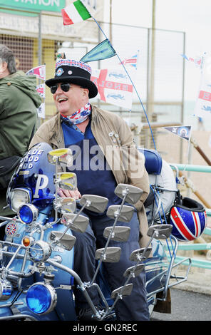
M 108 198 L 108 206 L 118 205 L 121 199 L 114 193 L 117 186 L 113 172 L 105 160 L 91 131 L 91 120 L 85 133 L 68 122 L 62 123 L 66 148 L 73 152 L 73 166 L 68 168 L 77 175 L 78 190 L 81 195 L 101 195 Z

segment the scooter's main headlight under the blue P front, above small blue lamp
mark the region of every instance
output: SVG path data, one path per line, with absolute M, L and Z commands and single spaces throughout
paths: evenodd
M 18 212 L 19 207 L 31 203 L 31 190 L 26 188 L 14 188 L 10 194 L 10 207 L 14 212 Z

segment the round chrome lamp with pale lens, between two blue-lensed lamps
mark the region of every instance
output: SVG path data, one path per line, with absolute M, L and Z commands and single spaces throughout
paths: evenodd
M 34 262 L 45 262 L 51 256 L 51 245 L 43 240 L 31 243 L 29 257 Z

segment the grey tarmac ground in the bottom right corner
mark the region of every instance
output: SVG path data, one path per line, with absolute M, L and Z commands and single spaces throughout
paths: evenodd
M 171 314 L 153 311 L 151 321 L 211 321 L 211 296 L 171 289 Z

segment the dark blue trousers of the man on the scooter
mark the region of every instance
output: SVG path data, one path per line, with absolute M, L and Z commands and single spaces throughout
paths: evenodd
M 110 219 L 106 215 L 91 215 L 89 212 L 88 217 L 90 219 L 90 225 L 88 225 L 86 232 L 83 234 L 73 232 L 73 235 L 76 237 L 74 247 L 74 270 L 78 273 L 83 282 L 91 282 L 96 269 L 96 249 L 104 247 L 107 241 L 107 239 L 103 237 L 103 230 L 105 227 L 112 226 L 114 222 L 113 219 Z M 133 250 L 140 249 L 138 242 L 139 222 L 137 212 L 134 212 L 130 222 L 118 222 L 117 225 L 130 227 L 130 237 L 128 242 L 115 242 L 111 240 L 109 243 L 109 247 L 121 248 L 119 262 L 103 263 L 108 273 L 107 280 L 111 291 L 125 284 L 126 278 L 123 277 L 125 269 L 135 265 L 135 262 L 129 260 L 130 254 Z M 145 272 L 141 272 L 138 277 L 130 279 L 130 282 L 133 283 L 132 293 L 128 297 L 119 299 L 115 305 L 117 319 L 123 321 L 149 320 L 150 316 L 145 289 Z M 93 299 L 93 303 L 98 304 L 99 298 L 96 289 L 90 288 L 88 292 Z M 76 305 L 79 308 L 88 308 L 86 299 L 81 292 L 77 291 L 75 297 Z

